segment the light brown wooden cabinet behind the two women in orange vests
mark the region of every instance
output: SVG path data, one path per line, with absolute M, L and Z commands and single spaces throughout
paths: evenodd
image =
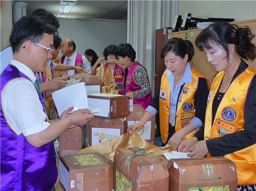
M 245 21 L 237 21 L 232 22 L 231 24 L 236 24 L 240 27 L 242 26 L 249 26 L 249 28 L 252 30 L 254 34 L 256 34 L 256 19 L 250 19 Z M 181 32 L 173 32 L 168 34 L 168 39 L 170 38 L 186 38 L 192 42 L 195 49 L 195 56 L 192 58 L 190 63 L 192 66 L 198 70 L 202 75 L 206 76 L 210 82 L 212 82 L 214 75 L 217 73 L 215 68 L 207 61 L 207 58 L 205 56 L 205 53 L 203 51 L 199 51 L 199 49 L 195 46 L 195 38 L 197 35 L 202 31 L 202 29 L 193 29 L 193 30 L 187 30 L 187 31 L 181 31 Z M 252 41 L 256 45 L 256 37 L 253 38 Z M 254 61 L 247 61 L 245 60 L 247 64 L 249 64 L 250 67 L 252 67 L 254 70 L 256 70 L 256 59 Z

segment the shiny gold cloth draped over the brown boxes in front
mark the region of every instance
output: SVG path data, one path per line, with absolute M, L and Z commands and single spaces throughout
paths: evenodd
M 137 132 L 134 132 L 130 137 L 129 132 L 123 134 L 121 136 L 115 137 L 111 140 L 107 140 L 101 144 L 97 144 L 94 146 L 89 146 L 87 148 L 82 149 L 77 153 L 101 153 L 109 156 L 111 160 L 114 160 L 115 152 L 120 148 L 127 148 L 138 146 L 140 148 L 145 149 L 146 152 L 152 153 L 155 155 L 160 155 L 163 153 L 170 153 L 173 150 L 170 150 L 169 145 L 164 148 L 160 148 L 159 146 L 155 146 L 149 143 L 147 140 L 143 139 Z

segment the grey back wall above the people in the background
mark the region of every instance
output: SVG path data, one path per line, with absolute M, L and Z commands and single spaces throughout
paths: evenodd
M 127 21 L 109 19 L 59 19 L 62 39 L 73 38 L 76 52 L 93 49 L 99 57 L 108 45 L 127 42 Z

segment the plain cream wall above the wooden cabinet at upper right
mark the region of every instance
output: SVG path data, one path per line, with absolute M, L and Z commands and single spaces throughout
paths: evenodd
M 256 18 L 256 0 L 180 0 L 179 15 L 208 19 L 232 18 L 235 21 Z

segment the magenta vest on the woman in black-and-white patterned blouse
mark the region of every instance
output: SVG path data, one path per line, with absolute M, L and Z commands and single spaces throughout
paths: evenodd
M 141 86 L 135 83 L 133 78 L 133 72 L 138 65 L 141 65 L 141 64 L 138 62 L 135 62 L 135 64 L 132 65 L 130 70 L 128 70 L 128 74 L 126 78 L 126 93 L 128 93 L 129 91 L 141 90 Z M 148 75 L 146 77 L 149 83 Z M 133 104 L 141 105 L 143 109 L 146 109 L 149 103 L 151 102 L 151 100 L 152 100 L 152 93 L 150 90 L 150 93 L 148 95 L 133 99 Z

